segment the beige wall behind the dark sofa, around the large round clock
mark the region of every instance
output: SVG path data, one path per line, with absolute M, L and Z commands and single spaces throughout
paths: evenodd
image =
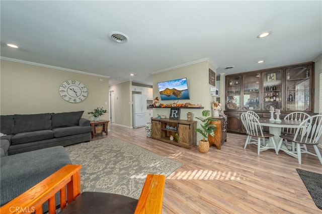
M 83 118 L 93 120 L 88 112 L 101 106 L 109 110 L 108 78 L 1 60 L 0 79 L 1 115 L 84 111 Z M 59 85 L 69 79 L 87 86 L 84 101 L 70 103 L 60 97 Z M 109 120 L 109 113 L 101 119 Z

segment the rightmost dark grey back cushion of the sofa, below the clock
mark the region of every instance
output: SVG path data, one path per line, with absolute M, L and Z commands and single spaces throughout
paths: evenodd
M 52 113 L 52 128 L 78 126 L 79 119 L 82 118 L 84 111 Z

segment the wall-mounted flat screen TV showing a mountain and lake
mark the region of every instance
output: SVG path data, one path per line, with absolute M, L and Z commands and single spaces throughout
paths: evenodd
M 161 100 L 190 99 L 187 78 L 157 83 Z

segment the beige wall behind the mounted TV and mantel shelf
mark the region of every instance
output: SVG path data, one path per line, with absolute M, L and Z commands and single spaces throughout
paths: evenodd
M 211 67 L 213 71 L 216 72 L 215 67 Z M 153 74 L 153 97 L 159 96 L 159 91 L 157 88 L 157 82 L 178 79 L 182 77 L 187 77 L 188 88 L 190 93 L 189 100 L 179 100 L 179 102 L 186 103 L 190 102 L 192 104 L 201 103 L 204 109 L 181 109 L 180 119 L 187 120 L 187 113 L 193 113 L 193 120 L 197 121 L 195 117 L 202 116 L 203 110 L 211 110 L 212 96 L 210 96 L 210 85 L 209 85 L 209 64 L 207 61 L 199 62 L 196 64 L 176 68 L 173 70 L 160 72 Z M 160 100 L 160 103 L 171 103 L 171 101 Z M 170 109 L 154 108 L 153 118 L 157 115 L 165 115 L 167 118 L 170 116 Z M 197 122 L 197 127 L 200 127 L 200 122 Z M 202 136 L 197 133 L 197 142 L 202 138 Z

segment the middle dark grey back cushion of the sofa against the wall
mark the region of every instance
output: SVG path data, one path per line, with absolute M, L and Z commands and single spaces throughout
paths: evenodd
M 14 134 L 51 129 L 51 114 L 14 115 Z

